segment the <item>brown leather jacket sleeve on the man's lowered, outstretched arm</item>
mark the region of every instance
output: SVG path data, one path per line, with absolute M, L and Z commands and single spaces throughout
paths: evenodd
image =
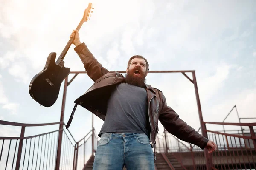
M 209 140 L 180 119 L 179 115 L 171 107 L 166 105 L 165 96 L 163 96 L 162 100 L 162 109 L 159 113 L 159 121 L 162 123 L 163 127 L 177 138 L 204 149 Z

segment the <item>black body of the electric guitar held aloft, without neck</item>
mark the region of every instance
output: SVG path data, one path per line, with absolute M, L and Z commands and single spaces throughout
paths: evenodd
M 49 54 L 44 69 L 33 77 L 29 84 L 30 96 L 45 107 L 52 106 L 58 98 L 61 83 L 69 75 L 70 68 L 55 63 L 56 53 Z

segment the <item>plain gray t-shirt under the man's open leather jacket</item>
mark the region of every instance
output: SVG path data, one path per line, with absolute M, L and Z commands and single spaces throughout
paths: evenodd
M 145 88 L 121 83 L 111 93 L 102 133 L 145 133 L 148 135 L 148 103 Z

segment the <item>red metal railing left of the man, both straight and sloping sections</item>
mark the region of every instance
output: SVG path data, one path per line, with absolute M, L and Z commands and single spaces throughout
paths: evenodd
M 18 137 L 0 136 L 0 169 L 55 170 L 56 162 L 58 161 L 60 163 L 60 170 L 82 170 L 88 159 L 95 152 L 95 147 L 97 146 L 94 129 L 90 130 L 78 142 L 75 141 L 67 129 L 58 129 L 34 136 L 25 136 L 25 129 L 27 127 L 58 124 L 64 123 L 23 124 L 0 120 L 0 125 L 21 127 L 20 136 Z M 61 155 L 57 159 L 58 136 L 60 131 L 63 132 Z M 94 141 L 94 145 L 92 141 Z

